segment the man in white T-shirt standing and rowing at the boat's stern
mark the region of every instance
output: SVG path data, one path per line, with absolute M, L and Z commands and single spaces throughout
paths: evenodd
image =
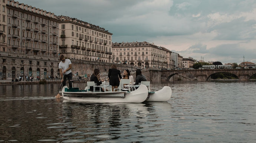
M 72 72 L 71 72 L 72 64 L 70 59 L 65 59 L 65 56 L 62 54 L 60 55 L 60 63 L 59 63 L 59 70 L 61 76 L 62 86 L 66 86 L 66 79 L 68 78 L 69 88 L 72 87 Z M 64 74 L 64 75 L 63 75 Z

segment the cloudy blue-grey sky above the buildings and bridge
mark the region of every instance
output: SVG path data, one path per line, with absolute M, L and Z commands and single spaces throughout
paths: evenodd
M 256 0 L 15 0 L 105 28 L 112 42 L 163 46 L 183 57 L 256 63 Z

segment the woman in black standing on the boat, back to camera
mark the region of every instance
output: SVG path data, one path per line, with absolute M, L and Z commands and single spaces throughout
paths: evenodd
M 111 69 L 108 70 L 109 85 L 112 86 L 112 91 L 114 91 L 114 88 L 117 88 L 120 84 L 118 76 L 120 79 L 122 79 L 120 70 L 116 69 L 115 64 L 112 64 Z

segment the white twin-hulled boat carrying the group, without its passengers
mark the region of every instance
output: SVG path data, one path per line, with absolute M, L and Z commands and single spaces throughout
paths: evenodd
M 116 102 L 116 103 L 142 103 L 144 101 L 166 102 L 171 98 L 171 88 L 163 87 L 159 91 L 148 92 L 147 86 L 141 84 L 137 90 L 128 91 L 106 91 L 106 92 L 86 92 L 65 91 L 67 86 L 62 88 L 62 96 L 66 100 L 87 101 L 87 102 Z M 87 89 L 87 88 L 85 88 Z

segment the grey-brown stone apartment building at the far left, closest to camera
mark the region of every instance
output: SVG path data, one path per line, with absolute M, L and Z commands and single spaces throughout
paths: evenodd
M 1 0 L 0 8 L 0 79 L 56 76 L 59 20 L 54 13 L 14 0 Z

